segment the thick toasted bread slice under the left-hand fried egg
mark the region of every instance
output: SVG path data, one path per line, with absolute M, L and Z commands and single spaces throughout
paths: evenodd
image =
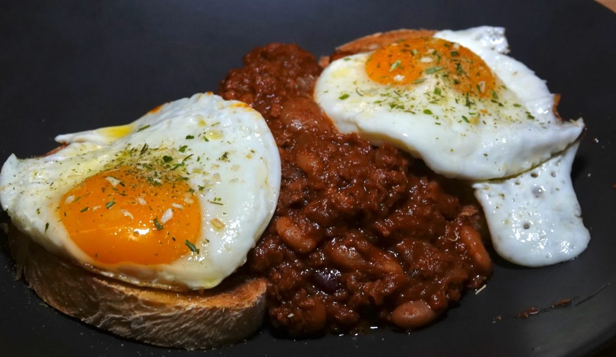
M 113 334 L 153 345 L 209 348 L 252 334 L 265 313 L 266 281 L 232 276 L 203 292 L 136 287 L 52 255 L 14 227 L 9 248 L 17 276 L 69 316 Z

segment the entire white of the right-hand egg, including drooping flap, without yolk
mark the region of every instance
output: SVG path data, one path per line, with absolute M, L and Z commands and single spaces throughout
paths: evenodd
M 340 131 L 389 142 L 437 173 L 474 181 L 496 252 L 519 265 L 551 265 L 575 258 L 590 241 L 570 180 L 578 147 L 572 142 L 584 123 L 554 115 L 554 95 L 506 55 L 504 33 L 484 26 L 434 35 L 479 55 L 501 83 L 495 101 L 477 101 L 474 111 L 488 115 L 476 123 L 464 120 L 469 107 L 437 78 L 408 86 L 370 80 L 371 53 L 332 62 L 317 81 L 315 100 Z

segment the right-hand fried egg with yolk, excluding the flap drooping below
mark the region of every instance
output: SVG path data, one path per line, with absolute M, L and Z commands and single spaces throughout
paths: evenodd
M 342 132 L 390 142 L 450 178 L 529 170 L 580 136 L 583 121 L 561 122 L 544 81 L 502 44 L 477 39 L 486 31 L 442 31 L 336 60 L 315 99 Z

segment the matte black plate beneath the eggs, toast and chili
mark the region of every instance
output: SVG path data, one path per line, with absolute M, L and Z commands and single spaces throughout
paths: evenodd
M 55 134 L 129 123 L 152 107 L 216 91 L 254 46 L 295 42 L 316 55 L 396 28 L 507 28 L 511 55 L 561 93 L 588 131 L 573 182 L 591 231 L 576 260 L 525 269 L 495 258 L 487 288 L 412 334 L 293 341 L 264 328 L 198 355 L 583 355 L 616 335 L 616 15 L 594 1 L 5 1 L 0 10 L 0 160 L 41 154 Z M 6 220 L 6 215 L 2 216 Z M 0 237 L 4 241 L 4 236 Z M 119 339 L 45 306 L 0 253 L 2 355 L 190 355 Z M 599 293 L 596 293 L 599 292 Z M 595 294 L 596 295 L 593 295 Z M 572 298 L 527 319 L 532 306 Z M 588 300 L 586 300 L 588 299 Z M 493 322 L 495 316 L 503 316 Z

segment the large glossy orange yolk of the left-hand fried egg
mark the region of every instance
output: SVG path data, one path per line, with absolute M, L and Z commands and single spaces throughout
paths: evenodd
M 73 242 L 107 264 L 171 263 L 195 250 L 198 200 L 184 178 L 156 172 L 122 166 L 70 189 L 59 215 Z

